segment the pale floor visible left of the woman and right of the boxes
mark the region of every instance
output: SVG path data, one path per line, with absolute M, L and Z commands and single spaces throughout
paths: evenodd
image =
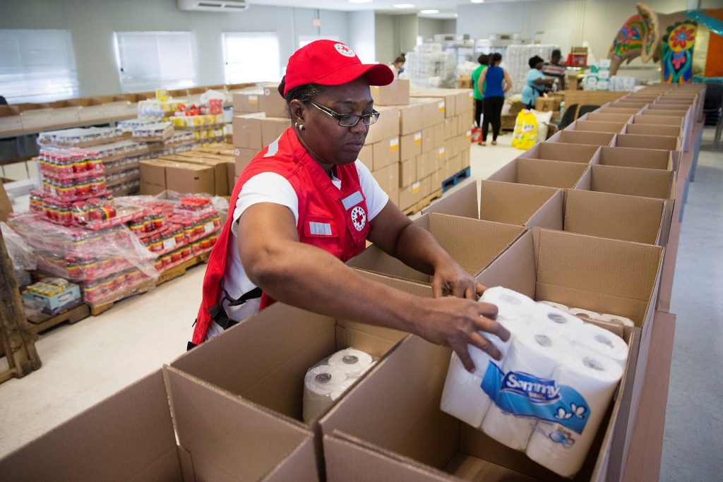
M 691 185 L 675 277 L 678 314 L 661 479 L 719 479 L 723 454 L 723 155 L 706 129 Z M 471 177 L 487 178 L 521 151 L 511 135 L 472 145 Z M 446 195 L 446 194 L 445 194 Z M 203 266 L 99 317 L 61 325 L 36 343 L 43 368 L 0 385 L 0 456 L 20 447 L 185 351 L 200 303 Z M 704 281 L 703 281 L 704 280 Z M 718 293 L 718 296 L 715 296 Z M 4 360 L 3 360 L 4 361 Z M 716 454 L 718 456 L 716 457 Z

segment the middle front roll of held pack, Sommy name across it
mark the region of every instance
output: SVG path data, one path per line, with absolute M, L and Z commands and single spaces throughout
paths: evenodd
M 557 360 L 570 343 L 550 327 L 533 327 L 515 334 L 500 369 L 489 363 L 482 390 L 495 400 L 482 430 L 502 444 L 524 450 L 536 424 L 536 409 L 556 397 L 551 379 Z

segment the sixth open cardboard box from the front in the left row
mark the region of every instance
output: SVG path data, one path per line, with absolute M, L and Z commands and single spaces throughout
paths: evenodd
M 566 163 L 560 160 L 517 158 L 503 165 L 488 179 L 534 186 L 571 188 L 578 186 L 589 167 L 587 164 Z

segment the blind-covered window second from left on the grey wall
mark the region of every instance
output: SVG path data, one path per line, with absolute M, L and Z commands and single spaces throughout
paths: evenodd
M 123 92 L 196 85 L 190 32 L 116 32 L 114 36 Z

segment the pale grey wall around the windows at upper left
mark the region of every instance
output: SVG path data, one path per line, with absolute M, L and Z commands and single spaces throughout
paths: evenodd
M 0 12 L 0 28 L 70 30 L 82 96 L 121 91 L 114 31 L 192 32 L 200 85 L 224 82 L 223 32 L 277 33 L 282 64 L 298 46 L 298 35 L 358 37 L 348 14 L 331 10 L 319 11 L 319 28 L 312 25 L 315 9 L 252 5 L 236 13 L 181 12 L 174 0 L 3 0 Z

